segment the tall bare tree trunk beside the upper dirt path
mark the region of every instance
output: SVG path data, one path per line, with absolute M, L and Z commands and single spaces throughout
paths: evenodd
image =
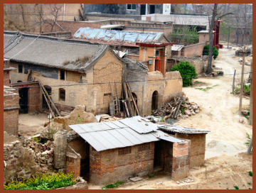
M 214 27 L 215 16 L 217 15 L 217 6 L 218 6 L 218 4 L 214 4 L 213 16 L 212 16 L 211 21 L 210 21 L 210 30 L 209 30 L 210 46 L 209 46 L 208 65 L 207 65 L 207 70 L 206 70 L 206 73 L 207 73 L 207 74 L 210 74 L 210 72 L 212 72 L 212 59 L 213 59 L 213 27 Z

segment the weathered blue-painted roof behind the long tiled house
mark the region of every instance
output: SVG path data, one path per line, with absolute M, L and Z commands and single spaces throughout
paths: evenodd
M 87 40 L 105 40 L 105 41 L 128 41 L 136 42 L 158 42 L 164 33 L 160 32 L 142 32 L 142 31 L 114 31 L 101 28 L 79 28 L 75 32 L 74 38 L 83 38 Z

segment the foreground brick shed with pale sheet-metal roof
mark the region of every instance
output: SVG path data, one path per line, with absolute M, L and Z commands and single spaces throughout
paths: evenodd
M 127 180 L 149 175 L 154 170 L 164 170 L 174 180 L 188 176 L 189 140 L 180 140 L 157 130 L 157 124 L 146 118 L 134 116 L 70 128 L 80 137 L 68 144 L 81 155 L 81 176 L 92 183 Z M 75 169 L 78 172 L 79 165 L 75 167 L 69 153 L 67 165 L 67 171 Z

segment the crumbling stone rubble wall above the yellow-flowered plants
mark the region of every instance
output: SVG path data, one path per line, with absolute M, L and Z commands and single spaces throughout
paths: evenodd
M 4 183 L 31 177 L 36 170 L 33 150 L 23 148 L 19 140 L 4 145 Z

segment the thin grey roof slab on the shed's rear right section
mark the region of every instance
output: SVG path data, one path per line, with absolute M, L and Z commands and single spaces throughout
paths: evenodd
M 158 128 L 162 131 L 171 131 L 174 133 L 186 133 L 186 134 L 199 134 L 199 133 L 210 133 L 208 130 L 198 128 L 188 128 L 183 126 L 174 125 L 159 125 Z

